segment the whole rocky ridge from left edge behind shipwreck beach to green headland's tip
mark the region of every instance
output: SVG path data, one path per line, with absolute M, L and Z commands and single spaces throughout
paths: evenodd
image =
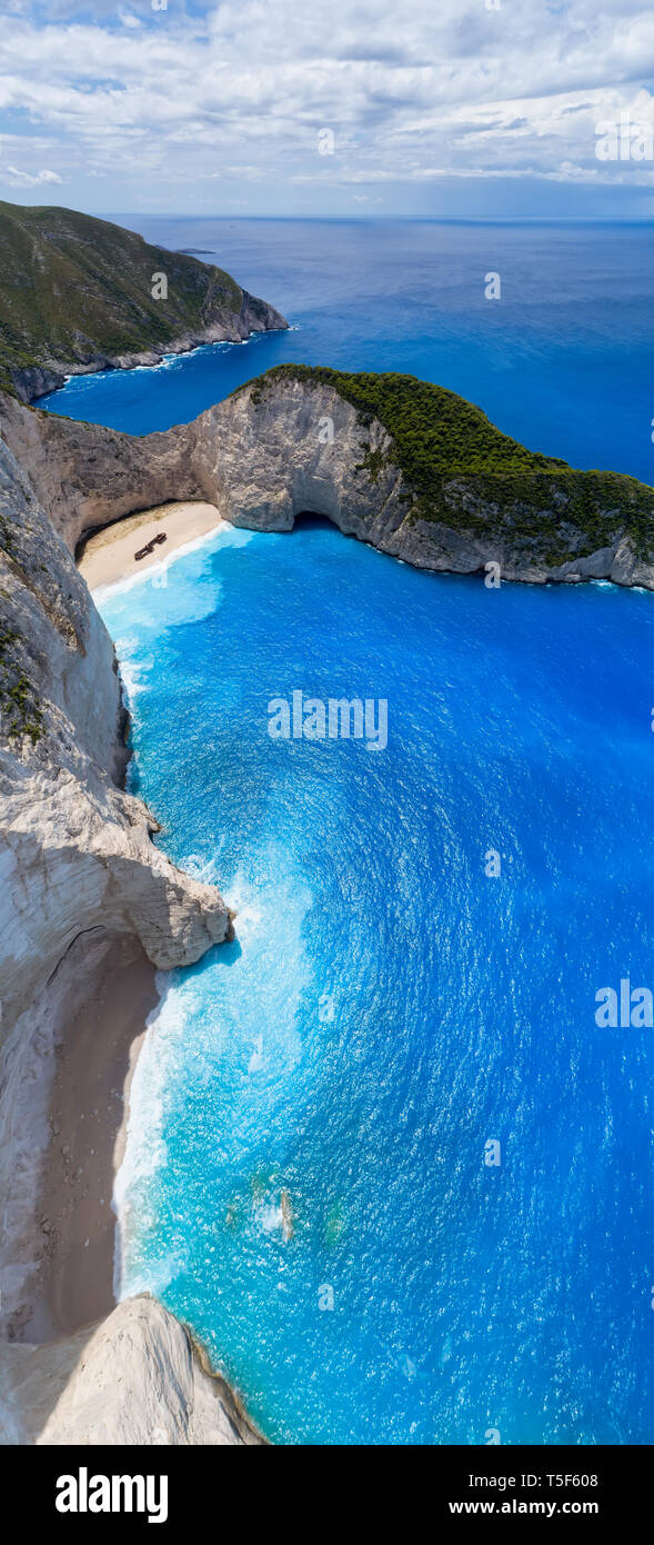
M 71 552 L 86 531 L 122 514 L 205 499 L 234 525 L 256 530 L 292 530 L 305 510 L 325 514 L 346 535 L 420 569 L 475 573 L 497 562 L 504 579 L 606 578 L 654 589 L 652 490 L 612 473 L 575 473 L 521 447 L 517 462 L 514 442 L 446 392 L 449 411 L 461 403 L 463 450 L 466 437 L 486 436 L 497 462 L 490 471 L 483 460 L 466 470 L 453 457 L 447 470 L 444 459 L 426 494 L 420 480 L 421 462 L 433 457 L 429 433 L 424 457 L 416 437 L 412 477 L 387 425 L 324 379 L 330 375 L 338 382 L 335 372 L 271 371 L 193 423 L 142 439 L 28 413 L 0 397 L 0 431 L 29 467 Z

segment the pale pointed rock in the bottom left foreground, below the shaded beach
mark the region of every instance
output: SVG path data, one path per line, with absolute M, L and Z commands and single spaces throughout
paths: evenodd
M 154 1298 L 46 1347 L 2 1346 L 0 1443 L 259 1445 L 231 1390 Z

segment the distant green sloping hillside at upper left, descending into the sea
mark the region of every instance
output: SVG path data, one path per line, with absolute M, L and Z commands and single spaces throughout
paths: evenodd
M 167 298 L 153 298 L 153 275 Z M 222 269 L 68 209 L 0 202 L 0 386 L 23 400 L 65 374 L 285 328 Z

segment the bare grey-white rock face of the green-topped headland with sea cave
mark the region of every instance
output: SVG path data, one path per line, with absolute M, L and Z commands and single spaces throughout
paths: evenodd
M 520 494 L 511 502 L 480 497 L 474 477 L 446 480 L 443 511 L 427 518 L 384 425 L 319 379 L 284 379 L 271 371 L 188 430 L 197 488 L 234 525 L 284 531 L 298 514 L 313 511 L 416 569 L 477 573 L 497 562 L 503 579 L 606 578 L 654 589 L 654 562 L 639 556 L 629 536 L 631 479 L 622 479 L 623 502 L 597 511 L 611 541 L 588 552 L 586 530 L 568 513 L 563 476 L 546 480 L 551 504 L 543 499 L 538 511 L 543 535 L 524 535 Z M 649 504 L 654 538 L 654 493 Z M 552 525 L 566 555 L 558 562 L 551 556 Z

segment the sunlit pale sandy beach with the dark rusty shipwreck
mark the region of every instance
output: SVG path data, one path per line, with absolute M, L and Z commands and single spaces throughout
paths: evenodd
M 77 567 L 89 590 L 97 590 L 100 586 L 116 584 L 119 579 L 160 567 L 171 553 L 225 524 L 214 504 L 160 504 L 153 510 L 128 514 L 123 521 L 105 525 L 102 531 L 89 536 Z M 134 553 L 162 531 L 167 536 L 165 542 L 154 547 L 147 558 L 136 559 Z

